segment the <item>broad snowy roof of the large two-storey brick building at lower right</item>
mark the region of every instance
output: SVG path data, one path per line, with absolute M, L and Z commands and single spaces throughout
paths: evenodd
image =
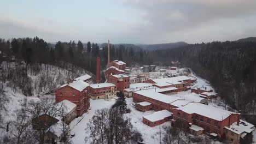
M 216 107 L 204 105 L 200 103 L 189 103 L 187 105 L 178 107 L 176 109 L 182 110 L 183 112 L 186 112 L 189 114 L 197 113 L 198 115 L 212 118 L 217 121 L 223 121 L 225 118 L 229 117 L 231 113 L 235 113 L 235 112 L 218 109 Z

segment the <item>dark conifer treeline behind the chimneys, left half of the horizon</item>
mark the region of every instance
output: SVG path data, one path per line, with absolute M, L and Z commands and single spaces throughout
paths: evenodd
M 135 50 L 136 49 L 136 50 Z M 6 57 L 15 57 L 16 61 L 25 61 L 27 65 L 45 63 L 65 67 L 68 62 L 78 67 L 96 73 L 96 57 L 101 57 L 101 65 L 104 69 L 107 64 L 107 46 L 100 47 L 97 43 L 88 41 L 86 45 L 82 41 L 58 41 L 55 45 L 48 44 L 43 39 L 18 38 L 11 40 L 0 39 L 0 51 L 2 61 Z M 119 59 L 128 65 L 137 63 L 151 63 L 150 53 L 142 49 L 110 44 L 110 60 Z

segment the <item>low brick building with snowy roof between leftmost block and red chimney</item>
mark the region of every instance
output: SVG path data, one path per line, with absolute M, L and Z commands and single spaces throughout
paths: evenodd
M 117 95 L 115 87 L 113 83 L 97 83 L 90 85 L 88 93 L 91 99 L 108 99 Z

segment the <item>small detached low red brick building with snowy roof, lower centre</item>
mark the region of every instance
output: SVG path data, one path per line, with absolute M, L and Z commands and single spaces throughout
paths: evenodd
M 170 111 L 162 110 L 144 115 L 142 121 L 150 127 L 155 127 L 156 125 L 170 121 L 171 116 L 172 113 Z

